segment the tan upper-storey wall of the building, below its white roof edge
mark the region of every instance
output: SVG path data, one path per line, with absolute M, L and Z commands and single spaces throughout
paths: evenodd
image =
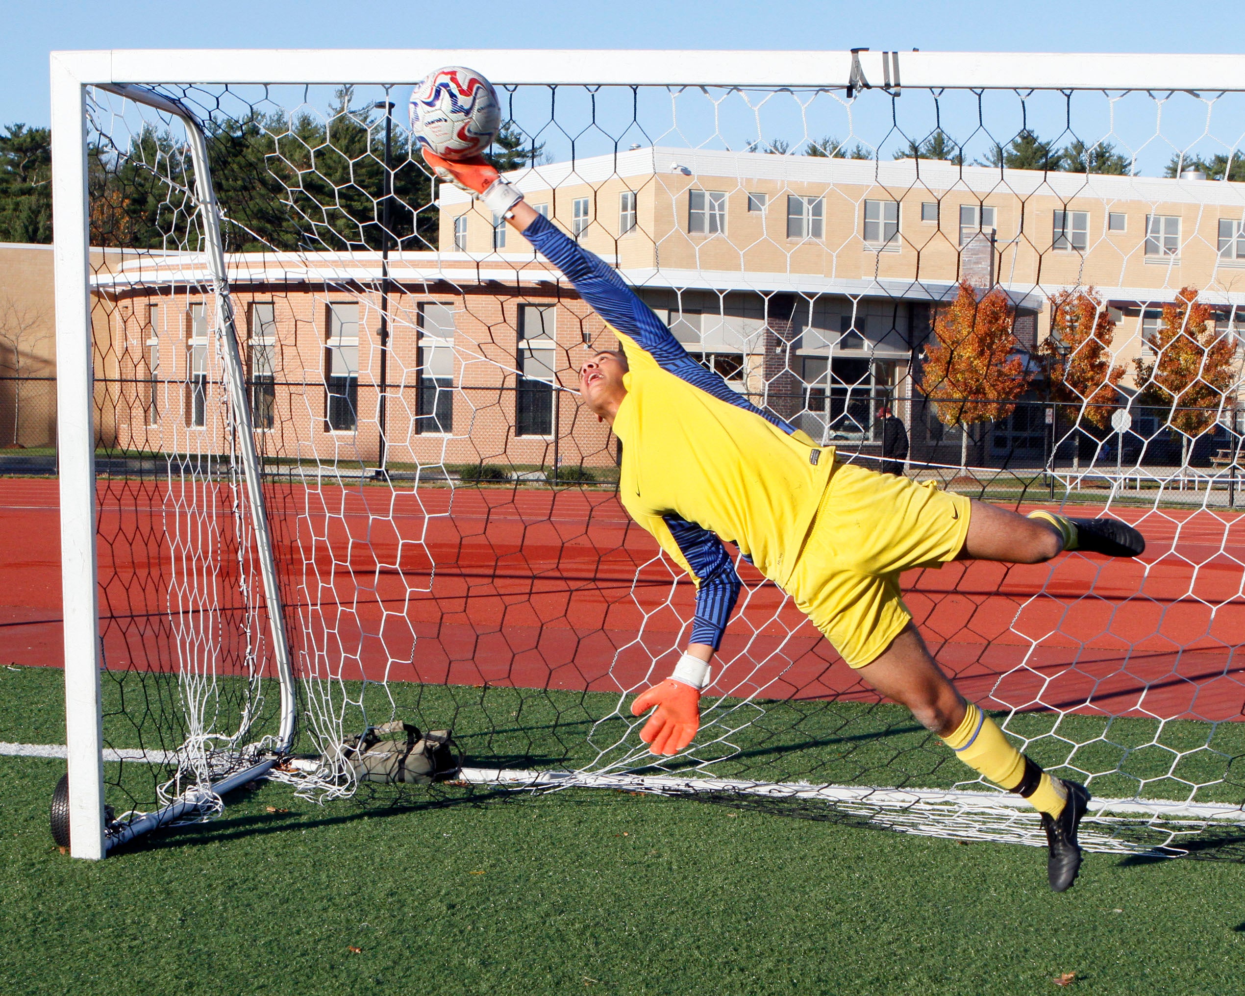
M 650 151 L 642 151 L 647 154 Z M 685 151 L 685 161 L 696 163 L 693 151 Z M 641 152 L 629 153 L 639 157 Z M 1140 336 L 1140 315 L 1148 304 L 1158 308 L 1170 300 L 1180 288 L 1191 285 L 1214 294 L 1240 295 L 1245 289 L 1245 261 L 1220 260 L 1218 255 L 1218 224 L 1220 218 L 1240 219 L 1245 212 L 1245 194 L 1240 184 L 1208 181 L 1168 181 L 1154 178 L 1096 177 L 1081 178 L 1059 174 L 1059 182 L 1071 183 L 1068 193 L 1057 194 L 1042 174 L 1025 171 L 998 171 L 966 167 L 972 183 L 931 179 L 926 163 L 919 182 L 886 186 L 878 182 L 845 181 L 840 173 L 858 176 L 862 166 L 848 161 L 810 161 L 808 157 L 766 157 L 748 153 L 730 159 L 733 173 L 722 169 L 722 153 L 707 153 L 703 169 L 684 173 L 674 169 L 671 158 L 677 151 L 657 149 L 649 156 L 646 171 L 636 168 L 639 158 L 620 164 L 627 176 L 591 176 L 591 161 L 576 164 L 576 172 L 558 183 L 555 189 L 542 188 L 539 171 L 520 181 L 529 203 L 550 203 L 554 217 L 565 229 L 571 227 L 571 204 L 588 197 L 594 205 L 594 224 L 581 235 L 581 243 L 621 268 L 662 268 L 669 270 L 702 271 L 712 281 L 723 276 L 762 274 L 788 275 L 794 283 L 801 278 L 820 280 L 815 290 L 835 293 L 825 281 L 895 280 L 903 284 L 952 284 L 962 276 L 975 283 L 995 279 L 1013 293 L 1032 295 L 1033 304 L 1047 311 L 1043 294 L 1062 286 L 1094 286 L 1108 304 L 1120 312 L 1116 331 L 1114 352 L 1125 365 L 1132 383 L 1133 361 L 1144 351 Z M 713 157 L 717 158 L 713 158 Z M 624 157 L 625 158 L 625 157 Z M 793 176 L 773 178 L 774 164 Z M 867 163 L 868 172 L 885 174 L 901 164 Z M 947 164 L 935 164 L 942 173 Z M 598 173 L 610 169 L 598 164 Z M 906 167 L 911 171 L 911 164 Z M 554 172 L 557 166 L 547 167 Z M 718 172 L 713 172 L 717 169 Z M 808 181 L 794 177 L 799 171 L 820 169 L 827 179 Z M 749 176 L 749 171 L 756 176 Z M 954 171 L 951 171 L 954 172 Z M 914 174 L 915 176 L 915 174 Z M 1091 182 L 1092 181 L 1092 182 Z M 1094 192 L 1092 183 L 1102 189 Z M 971 189 L 970 189 L 971 188 Z M 639 194 L 640 232 L 618 237 L 618 194 L 634 189 Z M 691 189 L 717 190 L 726 194 L 726 232 L 717 235 L 687 232 L 687 195 Z M 749 192 L 768 195 L 764 212 L 747 210 Z M 787 238 L 787 197 L 824 198 L 824 234 L 820 239 Z M 867 200 L 898 200 L 900 204 L 900 238 L 879 250 L 864 242 Z M 937 220 L 921 219 L 921 204 L 939 205 Z M 965 258 L 960 242 L 960 208 L 995 209 L 995 247 L 991 268 L 984 260 Z M 453 218 L 463 212 L 479 209 L 466 202 L 446 203 L 442 210 L 442 238 L 448 245 Z M 1056 212 L 1088 214 L 1088 247 L 1086 251 L 1057 250 L 1052 247 Z M 1112 232 L 1108 215 L 1124 218 L 1124 230 Z M 1147 256 L 1144 251 L 1147 219 L 1169 215 L 1180 219 L 1180 253 L 1175 259 Z M 469 222 L 469 247 L 486 248 L 487 222 L 482 215 Z M 510 235 L 513 251 L 514 235 Z M 972 255 L 971 250 L 969 253 Z M 971 274 L 970 274 L 971 270 Z M 812 284 L 809 286 L 813 286 Z M 855 290 L 855 293 L 860 293 Z M 875 294 L 878 291 L 874 291 Z M 1153 295 L 1153 298 L 1150 296 Z M 1245 306 L 1240 310 L 1245 311 Z M 1050 317 L 1043 314 L 1037 322 L 1038 337 L 1048 331 Z

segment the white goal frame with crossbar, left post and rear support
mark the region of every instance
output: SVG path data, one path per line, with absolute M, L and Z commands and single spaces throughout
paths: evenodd
M 202 136 L 184 108 L 141 90 L 195 83 L 395 83 L 439 65 L 468 65 L 498 83 L 657 85 L 740 87 L 884 87 L 1007 90 L 1245 91 L 1245 57 L 1236 55 L 1087 55 L 881 51 L 621 51 L 621 50 L 115 50 L 51 54 L 52 194 L 56 276 L 57 447 L 60 467 L 61 576 L 65 632 L 65 705 L 72 854 L 102 858 L 113 842 L 103 825 L 101 636 L 96 564 L 93 372 L 91 352 L 90 212 L 87 203 L 86 88 L 123 93 L 188 123 L 197 173 L 205 178 Z M 202 167 L 205 167 L 205 157 Z M 210 186 L 198 192 L 210 199 Z M 212 230 L 207 225 L 208 232 Z M 209 235 L 217 293 L 224 293 L 224 259 Z M 228 309 L 225 309 L 228 311 Z M 228 322 L 227 322 L 228 325 Z M 227 340 L 230 336 L 227 335 Z M 229 362 L 227 349 L 227 364 Z M 233 344 L 233 362 L 238 361 Z M 238 390 L 244 390 L 238 381 Z M 249 406 L 244 420 L 244 469 L 258 482 Z M 247 451 L 250 451 L 248 458 Z M 251 487 L 251 514 L 264 528 L 261 491 Z M 261 558 L 263 559 L 263 558 Z M 270 565 L 269 565 L 270 566 Z M 269 605 L 275 576 L 264 568 Z M 283 685 L 281 738 L 294 728 L 294 693 L 280 611 L 270 613 Z M 270 766 L 273 761 L 264 762 Z M 249 768 L 238 778 L 255 777 Z M 484 778 L 484 781 L 488 781 Z M 217 786 L 227 791 L 229 786 Z M 189 803 L 178 802 L 177 806 Z M 177 814 L 168 815 L 168 819 Z M 128 835 L 167 819 L 132 824 Z M 154 820 L 154 822 L 153 822 Z

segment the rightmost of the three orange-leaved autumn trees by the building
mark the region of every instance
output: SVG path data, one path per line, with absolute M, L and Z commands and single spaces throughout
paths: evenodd
M 1137 359 L 1137 383 L 1147 400 L 1168 410 L 1168 425 L 1183 436 L 1182 464 L 1189 439 L 1214 426 L 1230 401 L 1236 346 L 1226 329 L 1216 331 L 1210 306 L 1196 288 L 1182 288 L 1163 305 L 1163 324 L 1150 341 L 1153 359 Z

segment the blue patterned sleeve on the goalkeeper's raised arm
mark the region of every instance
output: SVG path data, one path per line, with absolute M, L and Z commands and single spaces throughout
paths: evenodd
M 621 276 L 599 256 L 568 238 L 548 218 L 537 215 L 523 234 L 545 259 L 561 270 L 563 275 L 575 285 L 579 296 L 588 301 L 598 315 L 634 339 L 640 349 L 661 365 L 662 370 L 721 401 L 759 415 L 787 433 L 796 431 L 791 423 L 737 395 L 726 386 L 726 381 L 718 374 L 696 362 Z

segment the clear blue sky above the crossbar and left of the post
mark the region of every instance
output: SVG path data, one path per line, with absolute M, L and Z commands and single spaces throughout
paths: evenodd
M 1041 2 L 391 2 L 151 0 L 7 5 L 0 123 L 47 122 L 54 49 L 565 47 L 1233 52 L 1245 4 Z

